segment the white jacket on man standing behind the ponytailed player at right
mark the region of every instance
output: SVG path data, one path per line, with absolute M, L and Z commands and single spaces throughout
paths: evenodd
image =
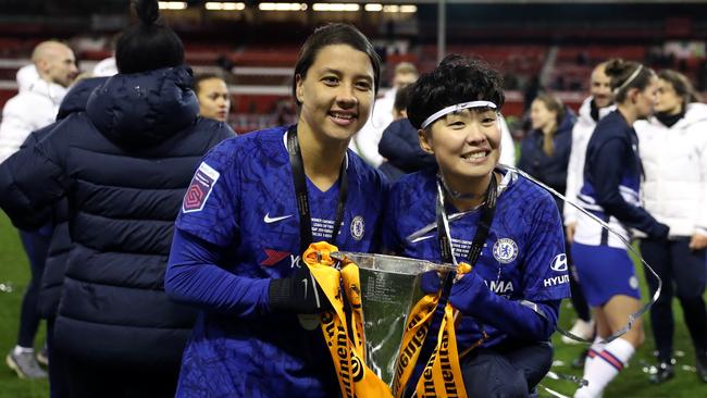
M 588 97 L 582 102 L 580 112 L 572 127 L 572 149 L 570 151 L 570 160 L 567 165 L 567 188 L 565 189 L 565 197 L 567 200 L 576 203 L 576 196 L 582 189 L 584 184 L 584 157 L 586 156 L 586 146 L 590 144 L 592 133 L 596 127 L 596 122 L 592 119 L 592 100 L 594 97 Z M 615 105 L 599 109 L 599 119 L 608 115 L 616 109 Z M 576 222 L 579 210 L 571 204 L 565 202 L 562 214 L 565 215 L 565 225 Z

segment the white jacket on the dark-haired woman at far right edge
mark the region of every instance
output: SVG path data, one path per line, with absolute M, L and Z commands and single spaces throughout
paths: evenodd
M 656 117 L 633 124 L 645 179 L 644 208 L 670 236 L 707 235 L 707 105 L 691 103 L 672 127 Z

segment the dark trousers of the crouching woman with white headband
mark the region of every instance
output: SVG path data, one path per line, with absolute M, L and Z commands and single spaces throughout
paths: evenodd
M 461 359 L 461 374 L 469 397 L 528 397 L 553 365 L 553 346 L 510 343 L 475 348 Z

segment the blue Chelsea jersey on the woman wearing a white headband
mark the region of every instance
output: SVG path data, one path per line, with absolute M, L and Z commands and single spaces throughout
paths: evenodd
M 551 196 L 532 182 L 505 172 L 494 220 L 477 263 L 488 289 L 509 300 L 546 301 L 569 297 L 569 274 L 562 223 Z M 383 246 L 400 256 L 441 262 L 436 227 L 409 239 L 435 223 L 435 171 L 405 176 L 392 189 L 383 226 Z M 447 206 L 447 214 L 457 210 Z M 450 222 L 454 254 L 468 262 L 481 211 Z M 481 337 L 481 327 L 494 346 L 506 334 L 463 316 L 457 326 L 460 350 Z

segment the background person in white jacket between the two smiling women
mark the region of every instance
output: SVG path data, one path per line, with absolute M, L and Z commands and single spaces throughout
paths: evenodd
M 397 64 L 393 76 L 393 87 L 383 97 L 375 100 L 371 117 L 351 139 L 351 149 L 374 167 L 380 166 L 384 161 L 379 153 L 379 144 L 383 130 L 394 121 L 395 96 L 400 88 L 413 84 L 418 76 L 418 69 L 410 62 Z

